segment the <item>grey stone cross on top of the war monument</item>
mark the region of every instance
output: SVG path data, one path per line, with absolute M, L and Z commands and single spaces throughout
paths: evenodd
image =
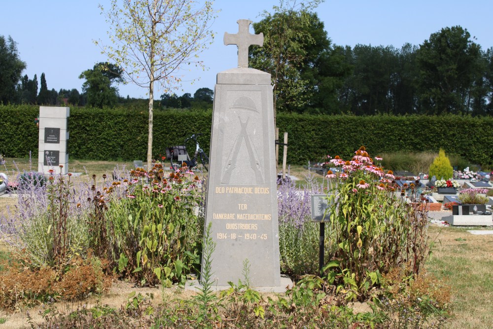
M 251 21 L 248 19 L 239 19 L 237 21 L 239 28 L 237 34 L 224 32 L 224 44 L 236 44 L 238 46 L 238 67 L 248 68 L 248 47 L 252 44 L 262 46 L 264 44 L 264 34 L 250 34 L 248 29 Z

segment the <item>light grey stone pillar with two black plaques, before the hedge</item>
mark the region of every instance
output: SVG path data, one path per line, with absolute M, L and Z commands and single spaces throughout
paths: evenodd
M 48 174 L 53 169 L 60 173 L 60 165 L 63 165 L 62 174 L 69 173 L 69 153 L 67 153 L 67 141 L 69 140 L 68 117 L 70 108 L 39 107 L 39 156 L 37 170 Z

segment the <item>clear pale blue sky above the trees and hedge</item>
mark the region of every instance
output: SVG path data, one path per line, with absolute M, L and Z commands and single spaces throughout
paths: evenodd
M 10 35 L 18 43 L 20 57 L 27 64 L 23 74 L 32 78 L 36 73 L 39 79 L 44 72 L 49 89 L 77 88 L 80 92 L 84 81 L 78 79 L 79 74 L 107 60 L 92 40 L 109 44 L 108 26 L 98 8 L 99 3 L 107 6 L 109 2 L 5 0 L 0 6 L 0 35 Z M 176 94 L 213 89 L 216 73 L 237 65 L 237 48 L 223 45 L 224 32 L 236 33 L 238 19 L 258 21 L 263 10 L 272 11 L 277 4 L 279 0 L 214 1 L 214 8 L 221 10 L 212 25 L 216 38 L 200 54 L 209 70 L 183 71 L 184 80 L 195 82 L 183 82 Z M 419 45 L 444 27 L 460 25 L 483 49 L 493 46 L 493 1 L 489 0 L 326 0 L 316 11 L 338 45 Z M 145 89 L 133 84 L 120 85 L 119 90 L 122 96 L 145 98 Z M 155 98 L 162 92 L 157 89 Z

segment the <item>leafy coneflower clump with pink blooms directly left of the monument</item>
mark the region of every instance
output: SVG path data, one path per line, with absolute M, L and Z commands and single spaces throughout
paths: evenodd
M 138 168 L 131 175 L 127 185 L 112 184 L 113 191 L 127 192 L 111 199 L 106 212 L 114 229 L 118 270 L 141 285 L 184 285 L 187 271 L 196 269 L 199 262 L 200 228 L 195 213 L 201 200 L 199 179 L 186 167 L 165 178 L 161 164 L 148 173 Z

